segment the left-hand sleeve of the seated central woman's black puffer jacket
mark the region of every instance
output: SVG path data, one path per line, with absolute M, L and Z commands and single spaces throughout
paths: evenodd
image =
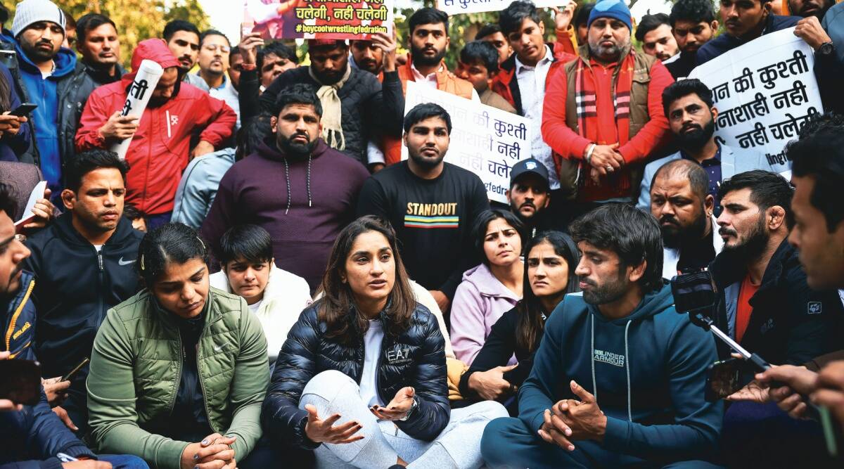
M 308 412 L 299 408 L 305 385 L 317 375 L 316 353 L 320 342 L 317 308 L 302 311 L 290 329 L 275 362 L 261 417 L 271 438 L 313 450 L 319 446 L 307 438 Z

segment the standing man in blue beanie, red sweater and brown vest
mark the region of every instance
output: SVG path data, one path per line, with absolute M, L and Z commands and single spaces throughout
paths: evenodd
M 641 164 L 670 137 L 660 96 L 674 78 L 634 50 L 630 30 L 624 2 L 595 3 L 580 57 L 549 72 L 542 137 L 554 150 L 560 196 L 581 202 L 572 215 L 630 202 Z

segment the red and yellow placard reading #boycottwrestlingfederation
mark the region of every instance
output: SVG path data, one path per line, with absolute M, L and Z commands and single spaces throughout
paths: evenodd
M 245 0 L 242 32 L 264 39 L 369 39 L 392 34 L 394 0 Z M 251 31 L 250 31 L 251 30 Z

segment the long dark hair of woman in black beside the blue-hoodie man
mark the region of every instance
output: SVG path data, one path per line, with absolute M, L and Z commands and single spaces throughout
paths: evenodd
M 574 240 L 571 240 L 568 234 L 563 234 L 559 231 L 540 232 L 533 237 L 533 240 L 527 243 L 525 257 L 530 255 L 530 251 L 535 246 L 542 243 L 548 243 L 554 247 L 554 252 L 557 256 L 562 257 L 569 267 L 569 282 L 565 285 L 565 293 L 579 292 L 580 288 L 577 286 L 575 269 L 577 263 L 580 262 L 580 251 L 577 251 L 577 245 Z M 542 333 L 545 330 L 545 323 L 542 321 L 543 312 L 549 315 L 551 311 L 544 311 L 542 303 L 536 294 L 533 293 L 530 280 L 527 278 L 527 263 L 527 259 L 525 259 L 524 287 L 522 288 L 524 296 L 516 305 L 516 310 L 519 313 L 516 324 L 516 343 L 519 347 L 534 350 L 539 342 L 539 337 L 542 337 Z

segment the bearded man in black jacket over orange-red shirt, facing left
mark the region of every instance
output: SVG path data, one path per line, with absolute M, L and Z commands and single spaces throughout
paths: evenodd
M 803 364 L 834 350 L 829 326 L 841 315 L 836 292 L 810 289 L 788 244 L 792 193 L 782 176 L 762 170 L 734 175 L 718 191 L 724 246 L 710 266 L 717 325 L 772 364 Z

